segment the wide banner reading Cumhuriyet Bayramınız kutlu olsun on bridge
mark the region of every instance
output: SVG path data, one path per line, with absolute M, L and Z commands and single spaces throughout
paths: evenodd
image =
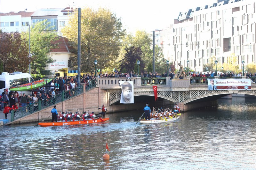
M 208 78 L 208 90 L 251 90 L 250 78 Z

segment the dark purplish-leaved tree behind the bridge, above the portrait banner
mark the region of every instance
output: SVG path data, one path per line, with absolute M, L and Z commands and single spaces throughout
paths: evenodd
M 120 69 L 123 70 L 124 68 L 126 68 L 127 71 L 133 71 L 134 63 L 137 60 L 141 61 L 140 57 L 141 57 L 142 51 L 140 47 L 134 47 L 134 46 L 126 48 L 125 51 L 126 51 L 126 54 L 124 55 L 123 60 L 120 62 Z M 140 62 L 140 66 L 144 68 L 143 61 Z

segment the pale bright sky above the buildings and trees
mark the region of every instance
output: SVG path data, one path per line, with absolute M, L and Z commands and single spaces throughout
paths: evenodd
M 69 5 L 76 7 L 107 8 L 121 18 L 127 32 L 136 30 L 147 32 L 155 29 L 165 29 L 173 24 L 180 12 L 187 11 L 206 4 L 216 3 L 217 0 L 0 0 L 0 11 L 36 11 L 40 8 L 65 8 Z

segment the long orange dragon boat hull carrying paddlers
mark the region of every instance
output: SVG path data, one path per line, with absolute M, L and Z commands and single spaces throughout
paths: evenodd
M 109 118 L 89 119 L 89 120 L 75 120 L 75 121 L 63 121 L 63 122 L 40 122 L 40 126 L 63 126 L 63 125 L 76 125 L 76 124 L 89 124 L 89 123 L 100 123 L 109 120 Z

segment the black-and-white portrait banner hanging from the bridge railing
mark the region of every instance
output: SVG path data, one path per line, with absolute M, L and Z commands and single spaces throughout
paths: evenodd
M 119 81 L 122 93 L 120 103 L 130 104 L 133 100 L 133 81 Z

